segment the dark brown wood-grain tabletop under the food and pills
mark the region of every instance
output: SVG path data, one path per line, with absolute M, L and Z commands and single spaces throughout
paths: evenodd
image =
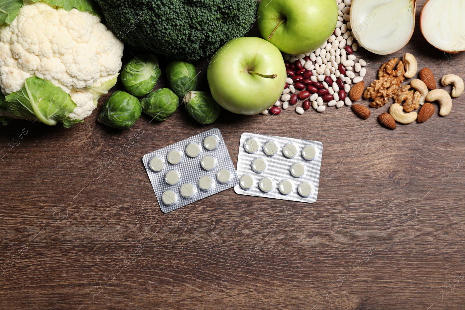
M 394 56 L 413 53 L 438 85 L 446 73 L 465 77 L 464 54 L 438 52 L 421 35 L 423 3 Z M 367 83 L 391 58 L 356 55 Z M 196 64 L 203 89 L 206 64 Z M 367 120 L 348 107 L 222 111 L 207 126 L 179 109 L 126 131 L 96 122 L 99 106 L 70 129 L 2 126 L 0 309 L 464 309 L 464 98 L 446 117 L 395 131 L 377 121 L 389 105 Z M 213 127 L 234 164 L 243 132 L 322 141 L 318 201 L 229 189 L 162 213 L 142 156 Z

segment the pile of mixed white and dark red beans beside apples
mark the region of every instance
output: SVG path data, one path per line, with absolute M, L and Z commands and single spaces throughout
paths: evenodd
M 366 62 L 353 54 L 359 46 L 351 35 L 351 0 L 337 0 L 339 17 L 332 36 L 315 52 L 289 55 L 284 53 L 287 79 L 280 100 L 262 114 L 279 114 L 302 101 L 295 111 L 303 114 L 310 106 L 324 112 L 326 106 L 351 106 L 351 85 L 360 83 L 366 74 Z M 357 74 L 357 76 L 356 76 Z

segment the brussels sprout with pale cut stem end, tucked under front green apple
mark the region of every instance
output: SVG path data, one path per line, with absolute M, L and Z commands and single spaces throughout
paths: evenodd
M 184 104 L 187 112 L 201 124 L 211 124 L 219 117 L 219 104 L 209 92 L 188 92 Z

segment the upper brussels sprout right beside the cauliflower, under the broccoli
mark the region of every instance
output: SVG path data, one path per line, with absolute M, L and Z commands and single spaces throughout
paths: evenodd
M 121 71 L 121 83 L 131 95 L 142 97 L 153 90 L 160 77 L 158 59 L 152 54 L 131 59 Z

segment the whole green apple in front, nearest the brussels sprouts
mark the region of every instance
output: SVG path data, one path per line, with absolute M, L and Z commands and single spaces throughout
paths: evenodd
M 283 56 L 256 37 L 229 41 L 213 55 L 206 76 L 213 99 L 226 110 L 252 115 L 279 99 L 286 84 Z

